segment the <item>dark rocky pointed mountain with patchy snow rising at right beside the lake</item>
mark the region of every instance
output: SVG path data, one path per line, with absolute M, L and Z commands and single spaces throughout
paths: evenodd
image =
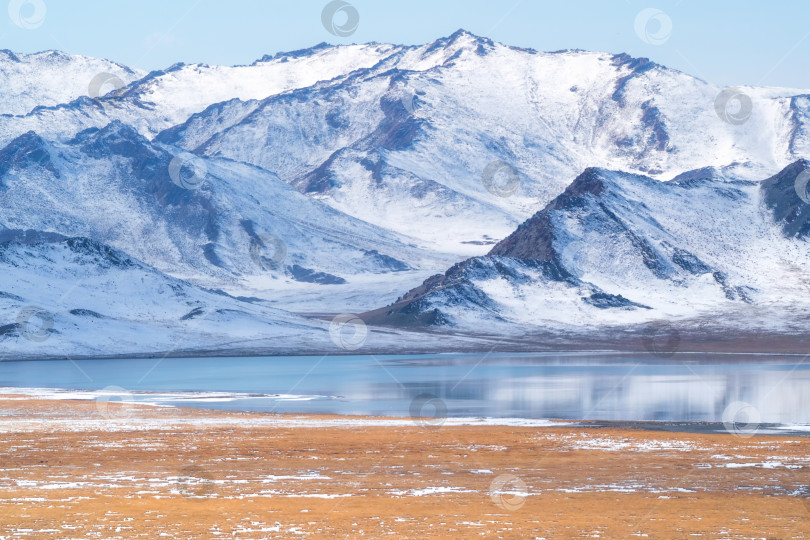
M 466 331 L 655 320 L 801 331 L 810 204 L 795 186 L 806 171 L 799 160 L 762 182 L 714 168 L 659 182 L 589 168 L 486 256 L 367 317 Z

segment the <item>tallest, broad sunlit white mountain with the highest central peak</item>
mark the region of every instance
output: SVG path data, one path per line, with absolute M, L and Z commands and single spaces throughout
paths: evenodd
M 345 79 L 217 104 L 158 140 L 253 163 L 349 215 L 470 255 L 586 167 L 669 179 L 738 162 L 753 179 L 806 153 L 802 91 L 740 89 L 748 117 L 724 119 L 723 90 L 646 59 L 460 31 Z

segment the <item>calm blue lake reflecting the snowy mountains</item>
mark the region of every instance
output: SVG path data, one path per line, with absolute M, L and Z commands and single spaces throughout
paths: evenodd
M 106 389 L 106 399 L 214 409 L 392 416 L 722 422 L 729 407 L 747 407 L 739 414 L 749 421 L 795 424 L 810 423 L 806 361 L 592 353 L 58 360 L 0 362 L 0 386 Z

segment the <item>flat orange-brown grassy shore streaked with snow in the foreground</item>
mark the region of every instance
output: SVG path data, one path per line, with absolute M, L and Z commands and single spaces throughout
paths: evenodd
M 6 395 L 0 538 L 810 537 L 807 438 L 369 420 Z

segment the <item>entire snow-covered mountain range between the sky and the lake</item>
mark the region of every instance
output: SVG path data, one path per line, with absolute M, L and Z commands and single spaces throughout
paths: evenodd
M 806 90 L 465 31 L 0 80 L 10 357 L 805 346 Z

